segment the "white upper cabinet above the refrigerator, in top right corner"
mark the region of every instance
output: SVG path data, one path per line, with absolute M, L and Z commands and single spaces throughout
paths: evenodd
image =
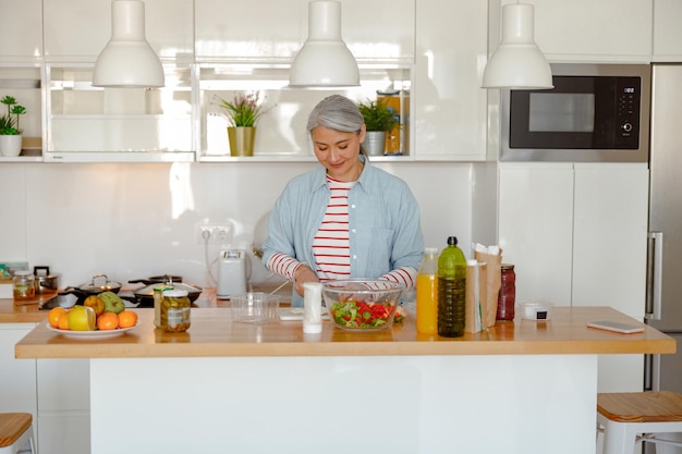
M 654 62 L 682 62 L 682 2 L 654 0 Z

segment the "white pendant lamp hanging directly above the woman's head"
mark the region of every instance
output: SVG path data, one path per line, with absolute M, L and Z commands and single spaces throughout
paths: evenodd
M 360 85 L 355 58 L 341 39 L 341 2 L 308 3 L 308 39 L 289 73 L 291 87 L 345 87 Z

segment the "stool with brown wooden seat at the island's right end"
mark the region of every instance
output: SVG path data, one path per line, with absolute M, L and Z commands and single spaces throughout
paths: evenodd
M 640 441 L 682 446 L 659 437 L 682 432 L 682 394 L 671 391 L 597 394 L 604 454 L 633 454 Z

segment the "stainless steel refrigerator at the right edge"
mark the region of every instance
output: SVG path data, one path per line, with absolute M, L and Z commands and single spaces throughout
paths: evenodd
M 651 71 L 646 322 L 678 353 L 646 356 L 644 389 L 682 393 L 682 64 Z

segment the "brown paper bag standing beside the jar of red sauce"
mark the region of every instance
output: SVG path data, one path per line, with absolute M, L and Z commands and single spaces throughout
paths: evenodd
M 474 257 L 479 263 L 485 262 L 485 267 L 480 266 L 478 277 L 480 283 L 480 324 L 485 330 L 495 326 L 497 318 L 497 299 L 502 281 L 502 249 L 498 246 L 485 247 L 476 244 Z

